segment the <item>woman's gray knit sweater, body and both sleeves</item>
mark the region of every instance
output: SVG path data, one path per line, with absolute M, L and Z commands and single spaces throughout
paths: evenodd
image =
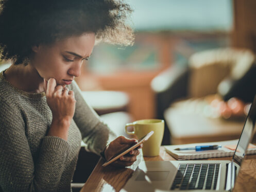
M 0 191 L 71 191 L 81 139 L 99 154 L 115 138 L 75 82 L 76 110 L 67 141 L 46 136 L 52 112 L 45 93 L 14 88 L 0 74 Z

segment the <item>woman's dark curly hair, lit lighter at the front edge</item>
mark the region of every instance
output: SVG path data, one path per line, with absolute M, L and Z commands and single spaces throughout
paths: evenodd
M 0 0 L 0 11 L 1 59 L 13 64 L 26 65 L 32 46 L 85 32 L 112 44 L 134 40 L 126 23 L 132 10 L 121 0 Z

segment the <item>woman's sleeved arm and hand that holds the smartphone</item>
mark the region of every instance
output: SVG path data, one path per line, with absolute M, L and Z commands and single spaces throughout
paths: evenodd
M 116 138 L 116 135 L 107 125 L 100 121 L 99 116 L 88 106 L 86 101 L 84 101 L 81 91 L 75 82 L 71 89 L 75 92 L 77 101 L 74 120 L 81 131 L 84 143 L 87 144 L 87 150 L 97 154 L 104 151 L 104 157 L 109 160 L 118 150 L 136 142 L 135 139 L 128 139 L 124 136 Z M 136 156 L 139 155 L 139 153 L 138 149 L 134 149 L 130 151 L 129 154 L 116 160 L 113 165 L 118 167 L 130 166 L 136 161 Z

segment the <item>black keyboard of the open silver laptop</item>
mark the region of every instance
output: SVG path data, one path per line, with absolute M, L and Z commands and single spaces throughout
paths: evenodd
M 220 164 L 179 164 L 171 190 L 215 189 Z

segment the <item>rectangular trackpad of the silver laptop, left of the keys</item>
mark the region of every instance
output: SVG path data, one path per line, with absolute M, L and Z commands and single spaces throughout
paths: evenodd
M 146 181 L 146 177 L 150 181 L 164 181 L 168 177 L 169 171 L 140 171 L 135 181 Z

